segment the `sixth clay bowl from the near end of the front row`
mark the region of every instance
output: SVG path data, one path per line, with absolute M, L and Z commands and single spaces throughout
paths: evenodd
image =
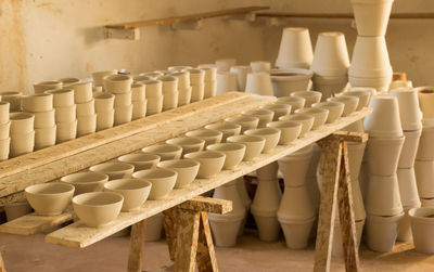
M 207 151 L 218 151 L 226 154 L 224 164 L 225 170 L 235 169 L 243 160 L 245 154 L 245 145 L 241 143 L 216 143 L 206 146 Z

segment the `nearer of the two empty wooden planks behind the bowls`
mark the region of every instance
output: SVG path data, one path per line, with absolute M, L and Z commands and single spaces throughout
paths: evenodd
M 28 185 L 59 179 L 68 173 L 86 169 L 92 165 L 177 137 L 189 130 L 201 128 L 209 122 L 237 115 L 247 108 L 256 108 L 275 100 L 275 98 L 271 96 L 235 95 L 235 101 L 231 102 L 232 99 L 228 100 L 228 98 L 232 98 L 232 95 L 222 95 L 226 99 L 215 98 L 215 100 L 213 98 L 209 99 L 209 101 L 197 102 L 194 107 L 190 107 L 190 111 L 183 111 L 182 114 L 170 111 L 163 113 L 159 116 L 159 122 L 163 124 L 163 126 L 158 125 L 146 131 L 64 157 L 50 164 L 33 168 L 31 170 L 29 169 L 4 177 L 0 179 L 0 206 L 8 203 L 7 199 L 2 199 L 1 197 L 23 191 Z M 224 101 L 224 103 L 218 103 L 219 101 Z M 210 106 L 209 102 L 214 103 L 214 105 Z M 170 119 L 170 122 L 165 121 L 165 119 Z M 167 126 L 167 124 L 170 124 L 170 126 Z

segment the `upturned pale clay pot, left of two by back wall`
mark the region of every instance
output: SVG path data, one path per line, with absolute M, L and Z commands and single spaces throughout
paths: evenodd
M 276 66 L 280 69 L 308 69 L 314 59 L 309 29 L 286 27 L 283 29 Z

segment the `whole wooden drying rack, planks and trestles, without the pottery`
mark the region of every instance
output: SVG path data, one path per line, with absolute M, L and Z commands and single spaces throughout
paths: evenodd
M 101 131 L 73 140 L 71 144 L 66 142 L 64 145 L 61 144 L 48 147 L 39 153 L 24 155 L 16 159 L 30 164 L 38 157 L 39 159 L 44 158 L 42 156 L 43 151 L 48 150 L 47 154 L 50 154 L 49 150 L 51 150 L 53 154 L 58 154 L 54 158 L 46 158 L 44 163 L 34 163 L 34 166 L 28 169 L 9 169 L 11 172 L 9 176 L 5 173 L 5 168 L 2 168 L 2 164 L 8 161 L 1 163 L 0 205 L 1 200 L 3 200 L 4 205 L 21 198 L 20 191 L 29 184 L 59 179 L 64 174 L 86 169 L 91 165 L 113 159 L 119 155 L 179 135 L 188 130 L 240 114 L 241 111 L 256 108 L 271 101 L 273 101 L 273 98 L 255 96 L 246 93 L 226 93 L 106 130 L 113 133 L 103 133 L 104 131 Z M 308 132 L 304 138 L 295 140 L 290 145 L 279 145 L 271 153 L 260 154 L 253 161 L 241 163 L 235 170 L 221 171 L 212 179 L 197 179 L 184 189 L 174 190 L 163 200 L 149 200 L 138 211 L 122 212 L 107 226 L 99 229 L 87 228 L 81 221 L 77 221 L 49 233 L 46 236 L 46 241 L 52 244 L 81 248 L 132 225 L 128 271 L 141 271 L 144 220 L 158 212 L 165 212 L 165 228 L 168 234 L 170 257 L 175 260 L 175 270 L 194 271 L 194 267 L 197 264 L 200 271 L 217 271 L 206 212 L 226 213 L 232 207 L 230 202 L 199 197 L 199 195 L 319 141 L 323 150 L 329 150 L 329 152 L 322 153 L 322 167 L 320 166 L 320 168 L 323 170 L 324 186 L 330 187 L 330 190 L 323 191 L 328 192 L 327 196 L 321 196 L 315 270 L 328 271 L 330 267 L 330 244 L 333 235 L 332 222 L 334 220 L 334 209 L 332 207 L 335 205 L 333 199 L 336 199 L 336 197 L 340 203 L 341 219 L 344 217 L 345 222 L 347 222 L 343 224 L 343 231 L 348 234 L 344 235 L 347 237 L 346 239 L 344 238 L 347 269 L 348 271 L 358 270 L 354 220 L 347 220 L 353 217 L 349 182 L 339 177 L 342 173 L 345 174 L 347 169 L 346 167 L 341 167 L 341 159 L 344 159 L 344 165 L 347 159 L 346 156 L 342 156 L 342 154 L 346 153 L 345 148 L 343 148 L 346 146 L 345 141 L 365 141 L 366 134 L 337 133 L 337 131 L 362 119 L 370 112 L 369 108 L 363 108 L 348 117 L 340 118 L 334 124 Z M 120 133 L 115 133 L 118 130 L 126 131 L 129 127 L 130 129 L 136 129 L 136 132 L 129 133 L 125 138 L 120 137 Z M 112 134 L 116 134 L 116 139 L 110 139 L 108 135 Z M 104 143 L 94 142 L 99 140 Z M 76 141 L 93 142 L 92 147 L 77 152 L 75 148 L 78 145 L 74 144 Z M 65 156 L 60 155 L 62 151 L 67 154 Z M 346 172 L 346 176 L 348 176 L 348 172 Z M 15 178 L 11 179 L 11 177 Z M 17 179 L 17 177 L 21 177 L 22 180 Z M 72 221 L 73 217 L 71 208 L 56 217 L 38 217 L 31 213 L 0 225 L 0 232 L 29 235 L 49 231 L 53 226 L 60 226 L 62 223 Z

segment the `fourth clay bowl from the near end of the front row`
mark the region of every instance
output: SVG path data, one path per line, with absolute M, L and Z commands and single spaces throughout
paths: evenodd
M 184 187 L 196 178 L 200 163 L 193 159 L 170 159 L 158 163 L 156 167 L 175 170 L 178 173 L 175 187 Z

